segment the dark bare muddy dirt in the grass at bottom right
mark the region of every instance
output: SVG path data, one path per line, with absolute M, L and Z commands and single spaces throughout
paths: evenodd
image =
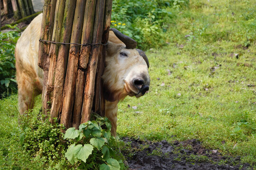
M 125 142 L 122 153 L 129 170 L 252 170 L 248 163 L 241 163 L 240 156 L 206 149 L 196 139 L 173 143 L 128 137 L 122 140 Z

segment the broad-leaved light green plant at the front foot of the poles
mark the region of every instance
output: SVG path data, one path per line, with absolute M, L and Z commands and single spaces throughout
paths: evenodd
M 118 140 L 111 136 L 107 118 L 97 118 L 67 129 L 64 139 L 70 144 L 65 153 L 67 160 L 83 170 L 122 170 L 124 163 L 118 150 Z

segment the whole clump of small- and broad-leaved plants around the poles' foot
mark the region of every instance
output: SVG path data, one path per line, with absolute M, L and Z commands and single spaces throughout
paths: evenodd
M 32 117 L 31 111 L 20 118 L 20 144 L 27 159 L 49 170 L 123 170 L 119 140 L 110 134 L 107 118 L 97 118 L 71 127 L 65 135 L 63 125 L 49 122 L 46 115 Z M 67 140 L 65 140 L 67 139 Z

